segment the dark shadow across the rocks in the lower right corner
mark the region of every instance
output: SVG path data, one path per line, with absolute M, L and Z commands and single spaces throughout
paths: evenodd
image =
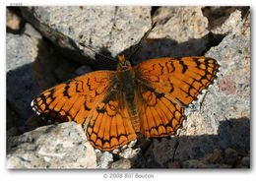
M 172 161 L 174 146 L 178 147 Z M 250 157 L 250 120 L 247 117 L 220 122 L 218 135 L 180 136 L 154 140 L 132 158 L 133 168 L 249 168 L 241 165 Z

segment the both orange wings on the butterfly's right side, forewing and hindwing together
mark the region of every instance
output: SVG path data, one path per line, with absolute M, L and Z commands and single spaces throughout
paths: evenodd
M 134 67 L 146 137 L 166 137 L 184 120 L 184 106 L 217 78 L 218 62 L 206 57 L 151 59 Z

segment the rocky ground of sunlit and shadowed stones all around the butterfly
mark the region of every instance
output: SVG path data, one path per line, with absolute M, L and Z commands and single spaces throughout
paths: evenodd
M 250 167 L 249 7 L 9 7 L 6 20 L 8 168 Z M 95 152 L 80 125 L 47 124 L 32 113 L 40 91 L 115 68 L 79 42 L 112 58 L 128 55 L 156 21 L 133 65 L 204 55 L 222 66 L 215 85 L 187 109 L 179 137 Z

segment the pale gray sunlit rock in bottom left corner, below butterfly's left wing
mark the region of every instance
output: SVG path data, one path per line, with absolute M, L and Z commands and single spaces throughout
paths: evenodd
M 96 168 L 96 152 L 74 122 L 37 128 L 8 139 L 7 167 Z

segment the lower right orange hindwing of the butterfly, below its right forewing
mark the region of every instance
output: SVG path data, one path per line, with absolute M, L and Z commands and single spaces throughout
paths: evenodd
M 177 131 L 184 120 L 184 108 L 173 102 L 164 92 L 148 86 L 139 87 L 138 103 L 142 133 L 147 138 L 169 137 Z

